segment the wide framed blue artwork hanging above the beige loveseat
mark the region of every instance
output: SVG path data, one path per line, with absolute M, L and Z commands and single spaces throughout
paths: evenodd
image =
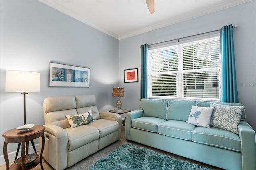
M 50 87 L 90 87 L 90 69 L 50 62 Z

